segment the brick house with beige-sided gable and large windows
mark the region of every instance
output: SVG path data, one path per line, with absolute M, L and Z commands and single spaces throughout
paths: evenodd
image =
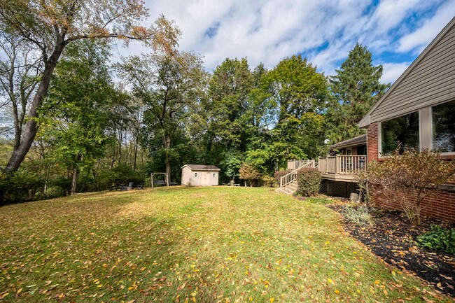
M 359 122 L 367 129 L 367 162 L 400 142 L 455 158 L 455 17 Z M 455 221 L 455 186 L 426 201 L 423 213 Z M 384 197 L 375 202 L 391 205 Z M 430 206 L 429 206 L 430 205 Z

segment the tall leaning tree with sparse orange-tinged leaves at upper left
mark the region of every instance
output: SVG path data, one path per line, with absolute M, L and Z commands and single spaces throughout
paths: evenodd
M 50 79 L 64 48 L 83 39 L 120 38 L 143 41 L 172 52 L 179 30 L 161 16 L 146 28 L 138 22 L 148 17 L 141 0 L 0 0 L 0 29 L 22 37 L 43 62 L 41 80 L 29 107 L 22 141 L 10 157 L 6 171 L 16 171 L 34 141 L 36 118 L 48 92 Z

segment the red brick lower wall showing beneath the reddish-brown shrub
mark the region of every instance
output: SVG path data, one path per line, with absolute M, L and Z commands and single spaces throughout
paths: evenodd
M 395 196 L 400 193 L 393 194 Z M 373 203 L 386 206 L 391 209 L 401 209 L 400 204 L 392 203 L 390 193 L 380 190 L 376 195 L 372 195 Z M 440 218 L 455 222 L 455 192 L 443 191 L 436 192 L 427 197 L 422 203 L 421 214 L 423 216 Z

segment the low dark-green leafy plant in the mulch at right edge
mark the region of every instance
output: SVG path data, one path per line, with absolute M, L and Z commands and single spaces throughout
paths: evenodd
M 446 229 L 441 225 L 431 225 L 431 230 L 417 236 L 417 244 L 435 251 L 445 251 L 455 255 L 455 229 Z

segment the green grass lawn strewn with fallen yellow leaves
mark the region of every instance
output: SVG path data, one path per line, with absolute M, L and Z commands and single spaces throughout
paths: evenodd
M 320 203 L 155 188 L 0 207 L 0 302 L 452 302 Z

